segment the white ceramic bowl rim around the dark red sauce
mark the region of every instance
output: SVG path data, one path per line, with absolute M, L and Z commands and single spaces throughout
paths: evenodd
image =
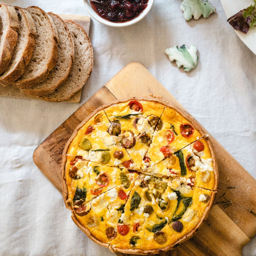
M 98 13 L 96 13 L 93 9 L 92 6 L 90 4 L 90 0 L 84 0 L 84 5 L 87 9 L 87 11 L 90 13 L 90 15 L 95 19 L 98 20 L 100 23 L 110 26 L 110 27 L 127 27 L 127 26 L 131 26 L 137 22 L 139 22 L 140 20 L 142 20 L 143 18 L 146 17 L 146 15 L 148 14 L 148 12 L 150 11 L 151 7 L 153 6 L 155 0 L 148 0 L 148 5 L 146 7 L 146 9 L 144 9 L 140 15 L 132 20 L 126 21 L 126 22 L 111 22 L 108 20 L 105 20 L 103 18 L 100 17 L 100 15 Z

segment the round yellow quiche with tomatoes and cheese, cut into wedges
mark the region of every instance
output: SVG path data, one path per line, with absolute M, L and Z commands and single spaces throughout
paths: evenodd
M 149 254 L 190 238 L 217 193 L 207 134 L 161 100 L 102 106 L 63 151 L 63 197 L 71 218 L 111 251 Z

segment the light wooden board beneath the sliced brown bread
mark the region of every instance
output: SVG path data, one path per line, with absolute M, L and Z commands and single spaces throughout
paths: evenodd
M 80 26 L 83 27 L 87 35 L 89 35 L 90 31 L 90 23 L 91 18 L 89 16 L 83 15 L 73 15 L 73 14 L 58 14 L 61 19 L 63 20 L 72 20 L 78 23 Z M 65 100 L 66 102 L 78 103 L 81 101 L 82 90 L 79 90 L 75 93 L 70 99 Z M 13 98 L 22 98 L 22 99 L 37 99 L 31 95 L 26 95 L 21 92 L 20 89 L 12 86 L 11 84 L 4 87 L 0 85 L 0 96 L 2 97 L 13 97 Z

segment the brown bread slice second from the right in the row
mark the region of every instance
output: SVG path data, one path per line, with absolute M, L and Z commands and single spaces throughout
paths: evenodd
M 47 79 L 30 88 L 21 89 L 28 95 L 45 95 L 54 92 L 68 77 L 74 60 L 74 43 L 66 23 L 56 14 L 49 13 L 58 28 L 58 58 Z

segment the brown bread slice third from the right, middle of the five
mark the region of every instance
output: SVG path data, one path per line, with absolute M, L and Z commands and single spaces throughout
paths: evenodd
M 43 82 L 57 62 L 58 51 L 58 35 L 55 34 L 56 28 L 49 15 L 37 6 L 30 6 L 26 10 L 34 20 L 37 37 L 26 71 L 14 83 L 19 88 Z

